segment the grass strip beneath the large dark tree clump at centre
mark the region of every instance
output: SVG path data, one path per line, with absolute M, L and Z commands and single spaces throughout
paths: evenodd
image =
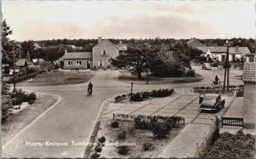
M 135 84 L 146 84 L 147 75 L 146 73 L 142 74 L 143 79 L 138 80 L 137 76 L 131 75 L 131 72 L 120 70 L 121 75 L 119 80 L 126 83 L 135 83 Z M 177 83 L 177 82 L 199 82 L 203 79 L 201 75 L 195 74 L 195 77 L 148 77 L 148 83 L 150 84 L 164 84 L 164 83 Z

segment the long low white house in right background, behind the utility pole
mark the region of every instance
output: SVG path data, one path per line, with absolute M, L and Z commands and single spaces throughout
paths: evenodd
M 211 58 L 212 60 L 218 60 L 220 62 L 224 61 L 227 54 L 227 48 L 226 47 L 196 47 L 200 49 L 203 54 L 202 56 L 207 57 L 207 59 Z M 229 50 L 229 60 L 230 61 L 255 61 L 255 54 L 251 54 L 250 50 L 247 47 L 230 47 Z M 248 59 L 247 57 L 251 57 Z

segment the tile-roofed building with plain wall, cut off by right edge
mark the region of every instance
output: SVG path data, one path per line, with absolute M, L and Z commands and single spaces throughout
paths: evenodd
M 256 121 L 256 62 L 247 62 L 243 67 L 244 82 L 243 117 L 244 128 L 255 128 Z

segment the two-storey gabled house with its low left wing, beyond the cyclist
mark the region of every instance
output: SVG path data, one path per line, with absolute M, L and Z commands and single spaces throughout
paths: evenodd
M 58 65 L 63 69 L 91 67 L 106 68 L 110 65 L 110 59 L 119 56 L 119 53 L 127 50 L 125 43 L 113 44 L 107 39 L 98 37 L 98 43 L 92 48 L 92 52 L 67 52 L 58 60 Z

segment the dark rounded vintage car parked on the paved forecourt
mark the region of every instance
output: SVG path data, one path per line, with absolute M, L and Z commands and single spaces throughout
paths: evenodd
M 224 108 L 225 100 L 219 94 L 206 94 L 200 97 L 200 109 L 202 111 L 218 111 Z

